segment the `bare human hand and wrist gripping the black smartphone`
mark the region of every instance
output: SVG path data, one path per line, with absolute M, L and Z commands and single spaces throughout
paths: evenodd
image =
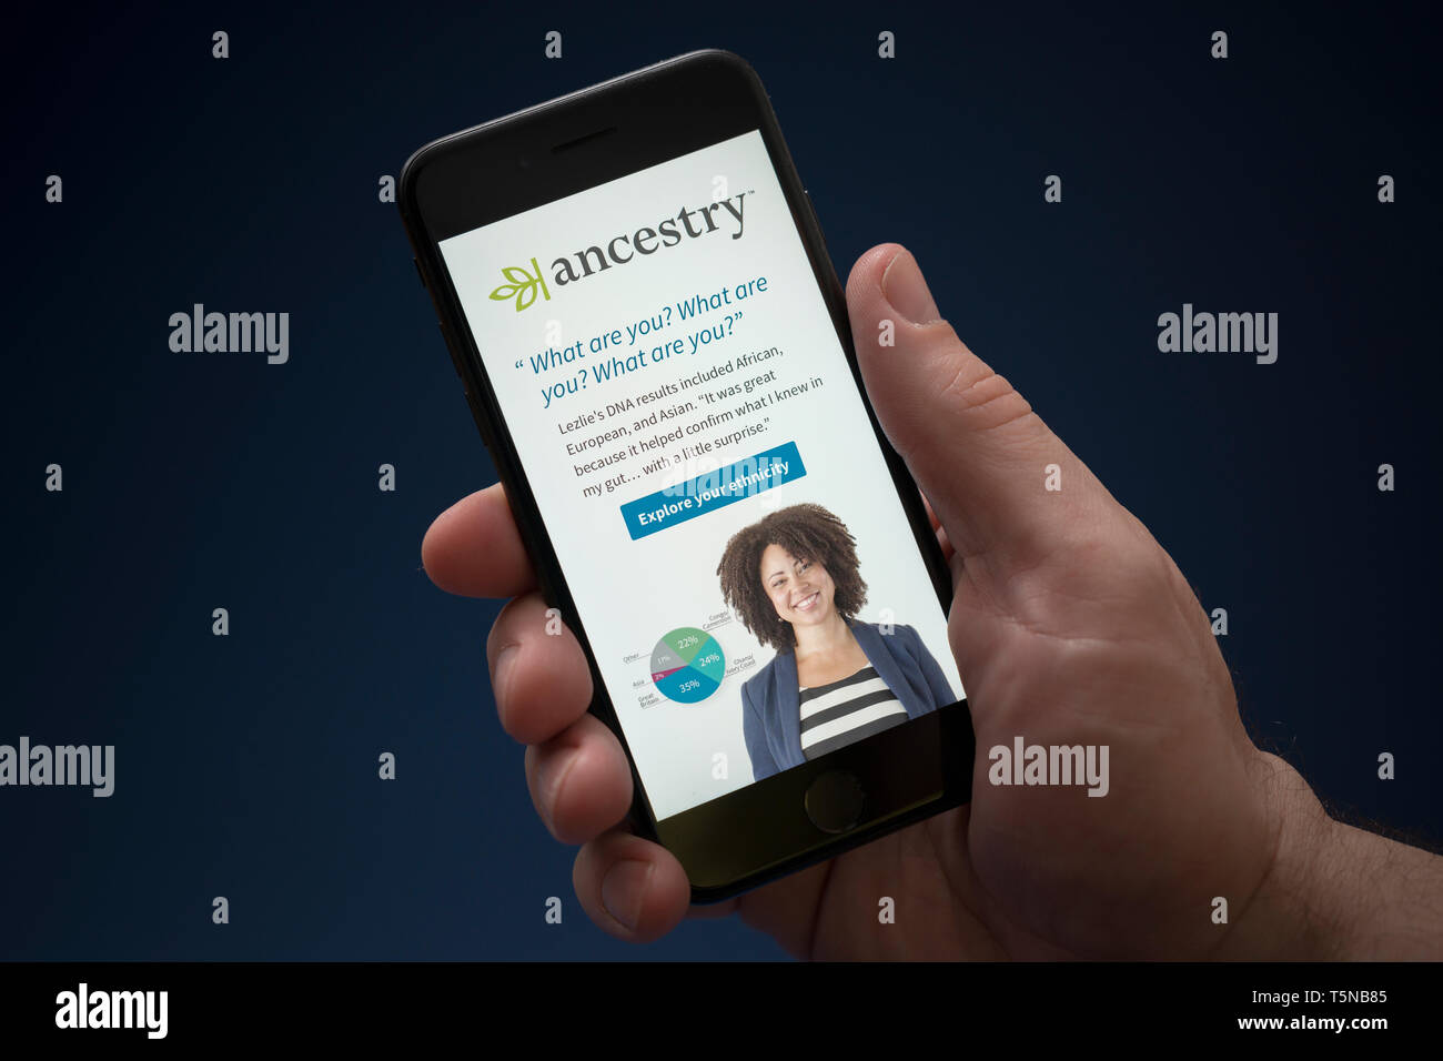
M 877 417 L 948 554 L 948 634 L 977 732 L 973 801 L 690 912 L 737 911 L 820 959 L 1436 956 L 1437 934 L 1414 925 L 1430 911 L 1439 924 L 1440 860 L 1333 823 L 1296 771 L 1253 745 L 1176 564 L 955 336 L 912 256 L 895 244 L 864 254 L 847 303 Z M 883 320 L 892 346 L 879 345 Z M 1043 488 L 1053 465 L 1059 491 Z M 543 821 L 582 844 L 583 908 L 623 938 L 670 931 L 688 914 L 685 875 L 618 826 L 632 798 L 625 755 L 586 713 L 580 645 L 544 634 L 501 486 L 442 514 L 423 562 L 442 589 L 514 598 L 486 645 L 498 712 L 528 745 Z M 988 784 L 987 751 L 1016 736 L 1108 746 L 1108 794 Z M 1414 882 L 1385 924 L 1358 904 L 1382 882 L 1367 868 L 1378 859 Z M 895 899 L 895 924 L 879 924 L 880 896 Z

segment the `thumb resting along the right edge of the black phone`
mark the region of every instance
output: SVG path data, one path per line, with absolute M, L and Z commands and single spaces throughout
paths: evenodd
M 962 559 L 1026 564 L 1115 514 L 1027 400 L 957 338 L 906 248 L 861 256 L 847 310 L 882 430 Z

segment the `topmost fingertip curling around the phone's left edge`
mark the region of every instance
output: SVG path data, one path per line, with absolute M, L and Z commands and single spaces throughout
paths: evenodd
M 436 517 L 421 540 L 421 566 L 447 593 L 505 598 L 537 588 L 535 569 L 499 482 Z

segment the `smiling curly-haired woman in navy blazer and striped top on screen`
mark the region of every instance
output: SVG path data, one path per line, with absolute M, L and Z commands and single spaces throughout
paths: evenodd
M 776 657 L 742 686 L 760 781 L 955 697 L 912 626 L 859 622 L 867 583 L 856 540 L 821 505 L 782 508 L 732 536 L 722 593 Z

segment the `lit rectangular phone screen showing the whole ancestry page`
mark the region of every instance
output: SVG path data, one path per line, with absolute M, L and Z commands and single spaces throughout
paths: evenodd
M 657 820 L 964 699 L 759 130 L 440 251 Z

